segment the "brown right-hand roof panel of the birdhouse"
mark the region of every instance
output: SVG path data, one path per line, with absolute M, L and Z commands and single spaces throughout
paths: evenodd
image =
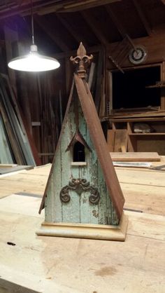
M 94 101 L 92 99 L 88 84 L 84 80 L 80 79 L 77 74 L 74 74 L 74 77 L 78 97 L 87 123 L 87 128 L 89 129 L 89 134 L 103 170 L 103 175 L 110 193 L 110 198 L 113 202 L 113 207 L 115 208 L 117 216 L 120 219 L 123 212 L 124 196 L 122 194 L 120 183 L 117 179 L 112 159 L 110 158 L 108 146 L 103 135 L 103 130 L 96 112 Z

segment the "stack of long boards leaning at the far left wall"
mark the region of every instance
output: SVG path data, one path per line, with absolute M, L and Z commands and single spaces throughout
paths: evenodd
M 0 75 L 0 163 L 36 165 L 8 77 Z

